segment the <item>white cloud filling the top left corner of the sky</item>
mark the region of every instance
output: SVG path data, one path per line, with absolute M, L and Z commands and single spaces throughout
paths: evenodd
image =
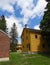
M 0 0 L 0 9 L 6 10 L 8 12 L 14 12 L 13 6 L 11 4 L 14 4 L 16 0 Z

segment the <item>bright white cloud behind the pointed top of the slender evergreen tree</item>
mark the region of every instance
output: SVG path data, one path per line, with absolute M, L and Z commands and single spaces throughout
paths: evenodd
M 19 22 L 20 22 L 20 20 L 16 19 L 14 16 L 11 16 L 10 18 L 6 17 L 6 24 L 7 24 L 8 31 L 9 32 L 11 31 L 11 27 L 12 27 L 13 23 L 15 23 L 17 26 L 18 36 L 20 37 L 22 30 L 23 30 L 23 27 L 21 24 L 19 24 Z

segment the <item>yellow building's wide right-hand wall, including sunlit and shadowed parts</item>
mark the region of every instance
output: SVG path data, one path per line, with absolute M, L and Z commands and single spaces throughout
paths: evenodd
M 31 52 L 49 52 L 47 43 L 40 33 L 30 33 Z

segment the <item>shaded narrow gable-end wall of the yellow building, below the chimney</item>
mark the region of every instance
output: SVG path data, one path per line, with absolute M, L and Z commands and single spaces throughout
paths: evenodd
M 29 30 L 24 29 L 23 35 L 22 35 L 22 51 L 23 52 L 29 52 L 28 44 L 30 44 L 30 34 Z

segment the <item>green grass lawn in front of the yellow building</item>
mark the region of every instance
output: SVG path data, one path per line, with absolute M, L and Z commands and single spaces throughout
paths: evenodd
M 0 65 L 50 65 L 50 56 L 11 52 L 10 60 L 7 62 L 0 62 Z

